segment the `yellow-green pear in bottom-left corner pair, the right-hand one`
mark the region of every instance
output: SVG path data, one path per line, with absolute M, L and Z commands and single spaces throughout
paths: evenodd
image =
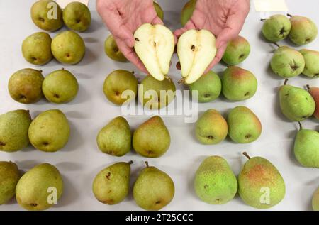
M 55 166 L 43 163 L 26 172 L 16 185 L 16 200 L 24 209 L 39 211 L 57 204 L 63 190 L 62 176 Z

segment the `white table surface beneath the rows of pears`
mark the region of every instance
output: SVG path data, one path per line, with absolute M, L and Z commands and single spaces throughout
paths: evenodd
M 159 0 L 165 10 L 165 23 L 169 28 L 178 28 L 179 11 L 186 1 Z M 289 13 L 308 16 L 319 26 L 317 0 L 287 1 Z M 114 62 L 103 52 L 103 42 L 108 31 L 103 26 L 96 13 L 95 2 L 90 2 L 92 24 L 89 31 L 82 33 L 86 43 L 86 55 L 79 65 L 61 65 L 55 60 L 41 67 L 28 64 L 21 54 L 21 42 L 26 36 L 40 31 L 31 21 L 30 6 L 33 0 L 0 1 L 0 114 L 14 109 L 29 109 L 32 116 L 47 109 L 61 109 L 67 115 L 71 125 L 71 136 L 67 146 L 57 153 L 43 153 L 32 147 L 16 153 L 0 152 L 0 160 L 12 160 L 23 171 L 33 168 L 38 163 L 52 163 L 62 173 L 65 190 L 59 204 L 50 210 L 139 210 L 130 194 L 121 204 L 107 206 L 94 198 L 91 192 L 91 183 L 101 169 L 118 161 L 133 160 L 131 183 L 143 168 L 143 161 L 148 160 L 150 165 L 157 166 L 167 172 L 174 180 L 176 194 L 173 201 L 164 207 L 166 210 L 254 210 L 236 196 L 228 204 L 210 205 L 201 202 L 193 189 L 194 173 L 201 161 L 208 155 L 223 156 L 237 175 L 245 163 L 246 158 L 241 155 L 247 151 L 251 156 L 262 156 L 270 160 L 286 182 L 286 196 L 282 202 L 272 210 L 310 210 L 310 200 L 313 192 L 319 185 L 318 169 L 303 168 L 293 157 L 293 139 L 297 124 L 287 121 L 281 115 L 278 104 L 278 87 L 283 83 L 269 70 L 269 61 L 274 48 L 261 39 L 262 23 L 260 13 L 252 7 L 247 18 L 242 35 L 251 45 L 250 57 L 240 65 L 257 76 L 259 87 L 252 99 L 242 102 L 228 102 L 220 97 L 218 100 L 200 104 L 199 113 L 207 109 L 217 109 L 224 115 L 235 106 L 245 105 L 252 109 L 262 121 L 262 136 L 250 144 L 235 144 L 229 139 L 216 146 L 203 146 L 194 138 L 194 124 L 185 124 L 184 116 L 165 116 L 164 122 L 170 131 L 172 144 L 168 152 L 161 158 L 142 158 L 133 151 L 122 158 L 115 158 L 101 153 L 96 146 L 96 134 L 108 121 L 121 116 L 121 108 L 111 104 L 102 92 L 103 81 L 109 72 L 116 69 L 136 70 L 130 63 Z M 65 28 L 63 28 L 65 29 Z M 60 32 L 60 31 L 58 31 Z M 52 37 L 57 32 L 51 33 Z M 289 43 L 282 41 L 281 44 Z M 319 38 L 305 48 L 319 50 Z M 173 65 L 177 56 L 173 57 Z M 7 84 L 9 77 L 16 70 L 26 67 L 41 68 L 44 75 L 53 70 L 65 67 L 77 76 L 79 94 L 77 99 L 69 104 L 50 104 L 45 100 L 37 104 L 19 104 L 9 96 Z M 216 72 L 225 70 L 224 65 L 214 68 Z M 169 74 L 174 79 L 177 89 L 183 87 L 177 84 L 180 72 L 172 66 Z M 142 77 L 144 75 L 139 75 Z M 303 87 L 305 84 L 319 86 L 319 79 L 296 77 L 290 84 Z M 132 129 L 145 121 L 149 116 L 128 116 Z M 305 128 L 319 128 L 318 121 L 307 119 L 303 121 Z M 15 200 L 0 206 L 0 210 L 20 210 Z

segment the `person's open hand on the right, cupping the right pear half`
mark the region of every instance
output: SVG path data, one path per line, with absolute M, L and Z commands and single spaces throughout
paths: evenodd
M 222 59 L 228 41 L 240 33 L 249 11 L 249 0 L 197 0 L 193 15 L 174 35 L 179 38 L 190 29 L 206 29 L 217 36 L 217 53 L 206 69 L 208 72 Z

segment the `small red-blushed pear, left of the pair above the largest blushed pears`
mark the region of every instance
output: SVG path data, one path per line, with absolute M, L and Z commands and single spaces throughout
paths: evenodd
M 228 125 L 215 109 L 208 109 L 196 122 L 196 138 L 206 145 L 223 141 L 228 133 Z

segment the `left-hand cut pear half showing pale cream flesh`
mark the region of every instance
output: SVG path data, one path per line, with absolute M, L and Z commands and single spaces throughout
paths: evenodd
M 150 75 L 162 81 L 174 53 L 174 35 L 160 24 L 144 23 L 134 33 L 134 49 Z

